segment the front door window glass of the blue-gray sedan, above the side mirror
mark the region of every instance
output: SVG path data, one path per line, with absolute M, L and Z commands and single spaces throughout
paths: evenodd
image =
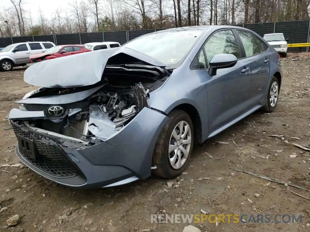
M 233 54 L 241 58 L 237 40 L 231 30 L 223 30 L 212 35 L 204 46 L 207 63 L 217 54 Z

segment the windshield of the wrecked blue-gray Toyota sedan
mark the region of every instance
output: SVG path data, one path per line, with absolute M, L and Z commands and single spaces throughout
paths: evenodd
M 201 33 L 201 30 L 157 32 L 141 36 L 123 46 L 171 66 L 183 61 Z

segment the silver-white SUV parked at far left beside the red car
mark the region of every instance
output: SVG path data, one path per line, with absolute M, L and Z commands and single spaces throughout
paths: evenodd
M 11 71 L 14 66 L 29 63 L 29 56 L 54 47 L 52 42 L 25 42 L 11 44 L 0 51 L 0 71 Z

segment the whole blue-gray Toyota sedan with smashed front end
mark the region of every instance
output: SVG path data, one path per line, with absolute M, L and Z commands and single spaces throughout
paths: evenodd
M 24 81 L 40 88 L 9 114 L 18 158 L 57 183 L 97 188 L 179 176 L 195 142 L 275 109 L 282 72 L 255 32 L 193 26 L 38 62 Z

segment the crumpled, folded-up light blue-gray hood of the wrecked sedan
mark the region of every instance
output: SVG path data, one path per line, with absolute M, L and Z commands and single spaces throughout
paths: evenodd
M 108 64 L 143 61 L 147 65 L 166 67 L 143 53 L 127 47 L 102 49 L 34 63 L 24 72 L 24 81 L 44 88 L 73 88 L 96 84 Z

